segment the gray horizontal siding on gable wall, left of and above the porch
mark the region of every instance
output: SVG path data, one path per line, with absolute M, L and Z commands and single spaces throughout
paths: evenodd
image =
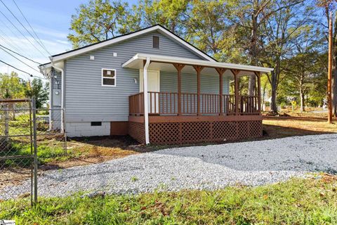
M 160 37 L 160 49 L 152 48 L 152 35 L 154 34 Z M 117 57 L 113 56 L 114 52 L 118 54 Z M 180 46 L 176 41 L 158 32 L 144 34 L 70 58 L 65 62 L 67 122 L 127 120 L 128 96 L 139 92 L 139 84 L 134 82 L 135 78 L 139 82 L 139 71 L 121 68 L 121 65 L 136 53 L 202 59 L 192 51 Z M 89 60 L 89 56 L 95 56 L 95 60 Z M 117 86 L 101 85 L 102 68 L 117 71 Z M 186 79 L 183 86 L 186 86 L 187 89 L 193 80 L 195 79 Z

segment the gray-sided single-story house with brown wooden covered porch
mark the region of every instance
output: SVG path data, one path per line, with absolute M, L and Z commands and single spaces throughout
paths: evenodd
M 67 136 L 171 144 L 262 135 L 260 75 L 272 69 L 219 63 L 160 25 L 50 59 L 39 68 Z M 240 77 L 251 75 L 256 94 L 240 95 Z

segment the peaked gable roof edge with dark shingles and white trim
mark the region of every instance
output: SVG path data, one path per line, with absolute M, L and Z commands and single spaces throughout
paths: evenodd
M 214 58 L 212 58 L 208 54 L 204 53 L 204 51 L 201 51 L 197 47 L 188 43 L 187 41 L 185 41 L 184 39 L 182 39 L 178 35 L 174 34 L 173 32 L 167 30 L 165 27 L 163 27 L 161 25 L 153 25 L 152 27 L 147 27 L 147 28 L 144 28 L 142 30 L 138 30 L 136 32 L 123 34 L 123 35 L 120 35 L 120 36 L 117 36 L 117 37 L 113 37 L 112 39 L 107 39 L 105 41 L 100 41 L 100 42 L 97 42 L 97 43 L 94 43 L 94 44 L 90 44 L 90 45 L 81 47 L 79 49 L 74 49 L 74 50 L 71 50 L 71 51 L 66 51 L 64 53 L 53 55 L 50 58 L 51 58 L 51 60 L 53 60 L 53 62 L 65 60 L 67 58 L 77 56 L 79 54 L 86 53 L 88 51 L 100 49 L 100 48 L 103 48 L 104 46 L 108 46 L 110 44 L 116 44 L 119 41 L 124 41 L 126 39 L 130 39 L 130 38 L 137 37 L 139 35 L 147 34 L 149 32 L 154 32 L 154 31 L 158 31 L 158 32 L 161 32 L 162 34 L 166 34 L 167 36 L 171 37 L 172 39 L 178 41 L 180 44 L 185 46 L 187 49 L 190 49 L 190 51 L 196 53 L 198 56 L 201 56 L 201 58 L 204 58 L 205 60 L 209 60 L 211 62 L 216 62 L 216 60 Z M 42 64 L 42 65 L 48 65 L 48 64 L 49 63 Z

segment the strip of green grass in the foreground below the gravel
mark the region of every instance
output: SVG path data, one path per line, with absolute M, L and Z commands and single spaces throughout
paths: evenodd
M 336 179 L 96 198 L 41 198 L 0 203 L 17 224 L 336 224 Z

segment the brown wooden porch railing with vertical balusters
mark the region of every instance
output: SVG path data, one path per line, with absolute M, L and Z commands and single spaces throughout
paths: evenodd
M 178 93 L 154 92 L 148 94 L 149 115 L 178 115 Z M 235 96 L 224 94 L 200 94 L 200 115 L 259 115 L 258 96 L 239 96 L 238 112 L 235 110 Z M 128 97 L 129 115 L 144 114 L 144 93 Z M 198 115 L 198 94 L 180 94 L 180 115 Z M 220 110 L 222 107 L 222 110 Z

